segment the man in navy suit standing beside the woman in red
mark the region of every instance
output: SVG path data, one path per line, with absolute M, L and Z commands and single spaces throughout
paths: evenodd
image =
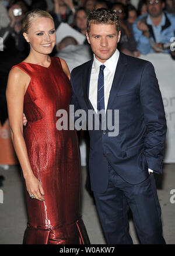
M 119 133 L 89 130 L 90 182 L 107 244 L 132 244 L 132 211 L 141 244 L 165 244 L 153 173 L 162 172 L 166 118 L 150 62 L 118 52 L 118 16 L 97 9 L 88 16 L 93 60 L 72 70 L 75 110 L 119 110 Z

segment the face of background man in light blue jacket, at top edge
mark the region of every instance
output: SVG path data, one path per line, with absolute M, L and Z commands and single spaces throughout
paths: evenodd
M 148 0 L 147 10 L 150 16 L 156 18 L 162 14 L 164 3 L 161 0 Z

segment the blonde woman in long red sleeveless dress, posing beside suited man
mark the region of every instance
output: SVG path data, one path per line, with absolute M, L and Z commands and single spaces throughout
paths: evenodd
M 31 11 L 23 32 L 30 54 L 12 67 L 6 90 L 10 132 L 26 192 L 29 221 L 23 243 L 89 244 L 79 213 L 76 131 L 56 128 L 56 112 L 69 110 L 72 90 L 65 61 L 48 55 L 56 40 L 52 16 Z

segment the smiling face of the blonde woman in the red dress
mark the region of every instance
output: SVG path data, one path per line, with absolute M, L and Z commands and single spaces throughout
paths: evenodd
M 50 18 L 36 18 L 27 33 L 23 33 L 30 49 L 41 54 L 52 52 L 56 42 L 54 21 Z

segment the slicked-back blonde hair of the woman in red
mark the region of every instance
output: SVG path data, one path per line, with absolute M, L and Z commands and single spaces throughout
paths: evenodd
M 53 16 L 51 16 L 50 13 L 48 13 L 47 11 L 43 11 L 40 9 L 31 10 L 30 12 L 26 13 L 26 16 L 23 19 L 23 32 L 28 32 L 33 19 L 41 17 L 50 18 L 54 21 Z

